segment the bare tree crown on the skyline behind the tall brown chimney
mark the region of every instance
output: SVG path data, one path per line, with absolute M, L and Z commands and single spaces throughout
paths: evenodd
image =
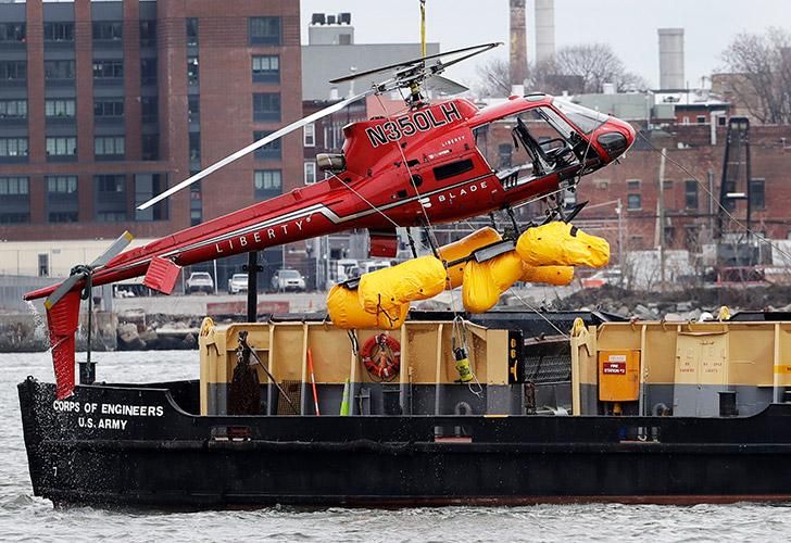
M 508 64 L 493 60 L 478 66 L 481 96 L 508 96 L 511 84 Z M 639 75 L 629 73 L 624 63 L 604 43 L 568 46 L 557 50 L 552 61 L 533 64 L 528 70 L 527 87 L 537 91 L 574 94 L 602 92 L 605 83 L 612 83 L 619 91 L 648 88 Z

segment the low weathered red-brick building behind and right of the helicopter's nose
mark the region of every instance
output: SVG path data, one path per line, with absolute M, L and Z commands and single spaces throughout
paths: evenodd
M 604 94 L 602 97 L 606 98 Z M 642 122 L 636 121 L 633 124 L 641 131 L 626 156 L 583 177 L 576 193 L 565 194 L 567 203 L 589 202 L 575 223 L 607 238 L 614 254 L 619 238 L 623 249 L 627 251 L 653 249 L 658 242 L 661 154 L 656 149 L 665 149 L 668 156 L 663 180 L 665 247 L 698 253 L 702 245 L 712 242 L 727 134 L 727 123 L 723 121 L 727 121 L 727 116 L 719 114 L 721 104 L 715 108 L 712 103 L 700 108 L 700 111 L 705 112 L 700 115 L 703 118 L 695 117 L 690 124 L 669 121 L 664 123 L 662 129 L 646 131 L 644 117 Z M 718 114 L 712 115 L 714 111 Z M 682 113 L 677 111 L 673 117 L 677 114 Z M 528 123 L 528 126 L 539 141 L 550 137 L 541 131 L 541 124 Z M 478 137 L 478 147 L 494 168 L 511 163 L 514 152 L 511 128 L 512 125 L 505 121 L 494 123 L 485 139 Z M 791 146 L 788 144 L 791 141 L 791 126 L 752 126 L 750 141 L 751 228 L 771 239 L 791 239 L 791 218 L 788 213 L 791 207 Z M 674 163 L 680 164 L 687 172 Z M 744 187 L 738 189 L 744 191 Z M 618 200 L 623 209 L 620 222 Z M 527 220 L 540 216 L 542 211 L 543 205 L 540 203 L 525 206 L 520 210 L 520 218 Z M 734 202 L 731 213 L 743 223 L 746 218 L 745 202 Z M 726 226 L 730 230 L 739 229 L 738 225 Z

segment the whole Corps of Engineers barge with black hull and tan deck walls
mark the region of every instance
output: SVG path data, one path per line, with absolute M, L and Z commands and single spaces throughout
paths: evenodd
M 449 317 L 413 312 L 388 332 L 385 378 L 361 356 L 377 331 L 355 349 L 305 315 L 205 320 L 199 380 L 56 400 L 30 377 L 34 493 L 143 507 L 791 498 L 791 321 L 488 313 L 464 323 L 465 383 Z

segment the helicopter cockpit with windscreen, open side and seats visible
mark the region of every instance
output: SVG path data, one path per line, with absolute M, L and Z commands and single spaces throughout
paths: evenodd
M 573 171 L 582 163 L 586 153 L 595 156 L 579 131 L 589 134 L 606 122 L 607 116 L 562 100 L 554 100 L 553 105 L 564 115 L 585 113 L 579 127 L 570 125 L 552 108 L 541 105 L 475 129 L 478 149 L 506 190 L 536 177 Z

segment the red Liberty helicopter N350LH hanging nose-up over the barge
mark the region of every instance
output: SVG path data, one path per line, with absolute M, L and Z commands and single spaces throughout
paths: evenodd
M 578 213 L 583 204 L 565 212 L 563 199 L 555 194 L 574 189 L 582 175 L 623 155 L 635 140 L 629 124 L 543 93 L 511 97 L 485 109 L 466 99 L 430 103 L 425 97 L 429 79 L 441 80 L 447 67 L 499 45 L 474 46 L 334 79 L 330 83 L 391 73 L 365 92 L 255 141 L 139 209 L 352 102 L 401 92 L 405 102 L 401 113 L 346 126 L 342 152 L 316 156 L 325 180 L 121 253 L 131 240 L 125 232 L 96 262 L 73 268 L 62 283 L 27 293 L 26 300 L 48 296 L 45 305 L 58 396 L 71 394 L 74 388 L 79 301 L 88 298 L 92 286 L 145 276 L 145 285 L 170 293 L 180 266 L 353 228 L 368 229 L 372 255 L 392 257 L 395 227 L 428 227 L 495 211 L 506 211 L 516 227 L 512 207 L 545 197 L 556 202 L 548 220 L 567 220 Z M 511 130 L 516 149 L 507 167 L 492 167 L 481 150 L 487 131 L 495 125 Z

